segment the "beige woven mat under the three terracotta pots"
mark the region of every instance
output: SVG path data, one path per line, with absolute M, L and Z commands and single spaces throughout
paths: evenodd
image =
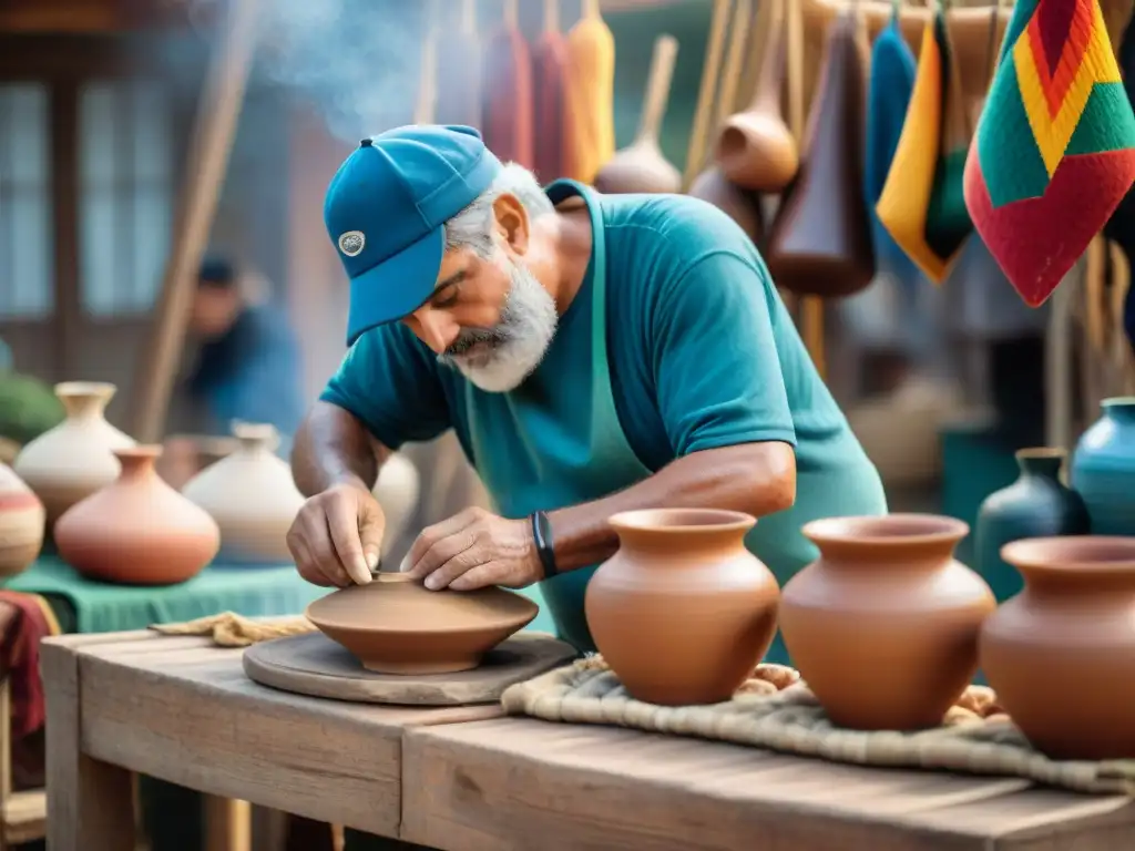
M 628 696 L 599 656 L 508 688 L 511 715 L 569 724 L 608 724 L 698 736 L 835 762 L 1025 777 L 1079 792 L 1135 794 L 1135 760 L 1056 761 L 1036 752 L 1000 710 L 993 692 L 972 685 L 941 727 L 917 733 L 833 727 L 792 668 L 758 665 L 732 700 L 663 707 Z

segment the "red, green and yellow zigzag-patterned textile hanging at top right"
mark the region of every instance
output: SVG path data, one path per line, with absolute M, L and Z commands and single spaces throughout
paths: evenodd
M 1135 182 L 1135 113 L 1098 0 L 1017 0 L 966 160 L 966 205 L 1040 306 Z

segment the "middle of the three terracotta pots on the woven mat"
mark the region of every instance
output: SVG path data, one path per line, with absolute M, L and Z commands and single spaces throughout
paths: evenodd
M 931 514 L 804 526 L 819 558 L 784 587 L 780 626 L 832 723 L 933 727 L 965 691 L 978 630 L 995 606 L 989 585 L 953 558 L 968 531 Z

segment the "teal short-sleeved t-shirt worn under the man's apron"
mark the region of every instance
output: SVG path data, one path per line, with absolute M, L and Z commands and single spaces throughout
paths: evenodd
M 796 504 L 762 519 L 749 539 L 784 582 L 815 557 L 800 534 L 805 522 L 885 513 L 878 473 L 813 365 L 764 261 L 732 219 L 683 195 L 598 197 L 611 379 L 628 443 L 649 470 L 734 444 L 792 445 Z M 578 347 L 581 368 L 590 368 L 583 356 L 590 325 L 589 271 L 561 317 L 555 368 L 572 361 L 565 347 Z M 548 361 L 538 370 L 546 368 Z M 543 385 L 572 393 L 571 374 L 552 378 Z M 453 428 L 476 467 L 464 384 L 394 323 L 359 338 L 321 398 L 353 413 L 392 449 Z

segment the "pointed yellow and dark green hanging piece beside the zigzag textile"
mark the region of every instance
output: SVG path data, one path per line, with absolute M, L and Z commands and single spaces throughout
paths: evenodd
M 973 233 L 962 196 L 968 126 L 945 10 L 939 6 L 923 31 L 902 135 L 875 204 L 883 227 L 935 284 L 945 279 Z

